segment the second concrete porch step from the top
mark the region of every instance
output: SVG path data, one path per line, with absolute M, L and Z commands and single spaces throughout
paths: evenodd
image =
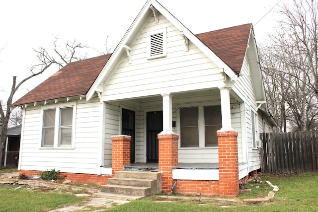
M 122 185 L 122 186 L 140 186 L 140 187 L 155 187 L 156 180 L 151 179 L 138 179 L 138 178 L 110 178 L 108 185 Z

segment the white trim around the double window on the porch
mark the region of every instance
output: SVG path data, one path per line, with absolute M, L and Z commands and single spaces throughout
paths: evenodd
M 177 126 L 177 134 L 180 136 L 179 141 L 178 141 L 178 148 L 180 149 L 200 149 L 200 148 L 205 148 L 205 149 L 217 149 L 219 146 L 205 146 L 205 122 L 204 122 L 204 107 L 209 107 L 209 106 L 218 106 L 219 104 L 183 104 L 183 105 L 176 105 L 177 108 L 181 107 L 198 107 L 198 115 L 199 115 L 199 120 L 198 120 L 198 131 L 199 131 L 199 146 L 181 146 L 181 117 L 180 117 L 180 110 L 177 110 L 177 119 L 176 119 L 176 126 Z M 221 128 L 220 128 L 221 129 Z

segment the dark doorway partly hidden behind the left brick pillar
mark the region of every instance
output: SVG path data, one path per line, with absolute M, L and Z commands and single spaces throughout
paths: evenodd
M 131 136 L 130 163 L 135 163 L 135 111 L 123 108 L 121 118 L 121 135 Z

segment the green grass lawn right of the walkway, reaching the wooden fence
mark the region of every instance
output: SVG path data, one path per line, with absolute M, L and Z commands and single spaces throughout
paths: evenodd
M 155 197 L 136 200 L 109 209 L 110 212 L 317 212 L 318 173 L 293 175 L 263 175 L 262 184 L 248 184 L 249 194 L 239 194 L 238 199 L 265 197 L 271 191 L 265 181 L 279 187 L 275 197 L 266 203 L 221 204 L 202 201 L 156 202 Z M 259 186 L 259 188 L 256 188 Z

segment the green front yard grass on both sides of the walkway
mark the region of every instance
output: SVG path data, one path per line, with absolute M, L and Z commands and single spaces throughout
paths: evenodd
M 126 212 L 299 212 L 318 211 L 318 173 L 305 173 L 293 175 L 269 175 L 261 177 L 261 184 L 250 183 L 247 185 L 251 193 L 239 194 L 235 202 L 219 202 L 207 200 L 165 200 L 157 196 L 143 200 L 136 200 L 124 205 L 113 205 L 111 209 L 106 207 L 91 206 L 89 211 L 126 211 Z M 274 198 L 263 203 L 244 203 L 242 200 L 251 198 L 263 198 L 271 191 L 271 187 L 265 183 L 270 181 L 279 187 Z M 77 197 L 74 193 L 52 189 L 28 189 L 28 186 L 0 184 L 0 212 L 42 212 L 50 211 L 71 205 L 85 205 L 89 197 Z M 178 196 L 178 195 L 176 195 Z M 86 210 L 87 211 L 87 210 Z

